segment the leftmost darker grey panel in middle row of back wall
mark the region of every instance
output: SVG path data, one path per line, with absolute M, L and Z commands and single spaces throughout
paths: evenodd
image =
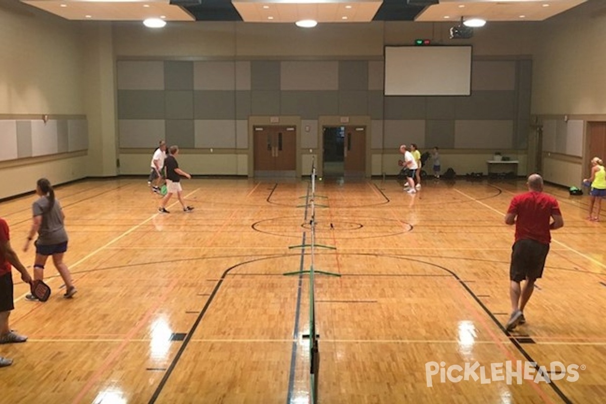
M 164 119 L 164 91 L 119 90 L 118 119 Z

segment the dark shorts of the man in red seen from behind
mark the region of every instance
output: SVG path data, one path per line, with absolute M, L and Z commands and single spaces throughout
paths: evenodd
M 511 248 L 509 279 L 521 282 L 524 279 L 532 280 L 543 276 L 548 252 L 548 244 L 530 239 L 516 241 Z

